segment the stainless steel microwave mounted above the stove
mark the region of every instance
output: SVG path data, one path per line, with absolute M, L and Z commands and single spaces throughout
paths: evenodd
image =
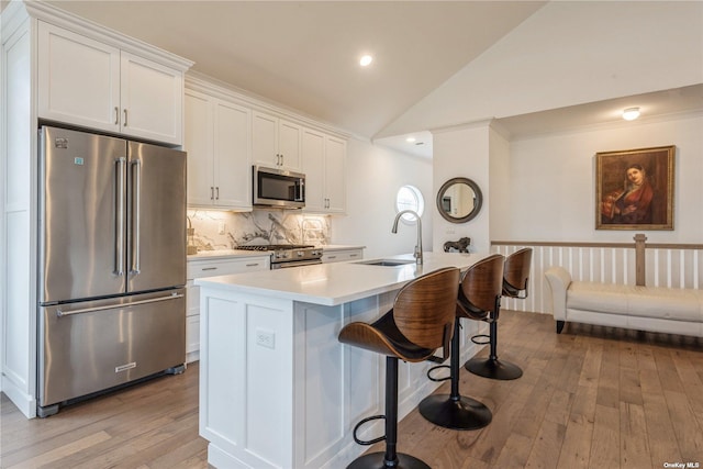
M 302 209 L 305 206 L 305 175 L 254 166 L 254 205 Z

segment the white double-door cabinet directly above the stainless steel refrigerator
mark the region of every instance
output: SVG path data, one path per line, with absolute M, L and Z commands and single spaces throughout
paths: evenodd
M 182 143 L 183 72 L 38 22 L 38 116 Z

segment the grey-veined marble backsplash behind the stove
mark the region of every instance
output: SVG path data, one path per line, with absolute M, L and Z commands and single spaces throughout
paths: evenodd
M 188 210 L 198 250 L 234 249 L 257 244 L 330 244 L 330 217 L 289 210 L 219 212 Z

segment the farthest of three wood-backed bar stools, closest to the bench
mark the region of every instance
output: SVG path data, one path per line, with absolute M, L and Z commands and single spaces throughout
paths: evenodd
M 503 295 L 510 298 L 525 299 L 527 298 L 527 280 L 529 278 L 529 266 L 532 263 L 532 248 L 516 250 L 507 256 L 503 269 Z M 523 376 L 523 370 L 510 361 L 498 359 L 498 316 L 500 308 L 491 313 L 490 317 L 483 319 L 490 325 L 490 335 L 483 334 L 473 336 L 488 337 L 490 344 L 490 355 L 488 358 L 471 358 L 465 364 L 465 368 L 473 375 L 483 378 L 511 380 Z M 476 344 L 484 344 L 484 342 L 476 342 Z

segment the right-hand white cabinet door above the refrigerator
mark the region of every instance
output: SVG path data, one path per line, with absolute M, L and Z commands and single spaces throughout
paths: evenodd
M 121 57 L 122 132 L 180 145 L 182 74 L 125 52 Z

